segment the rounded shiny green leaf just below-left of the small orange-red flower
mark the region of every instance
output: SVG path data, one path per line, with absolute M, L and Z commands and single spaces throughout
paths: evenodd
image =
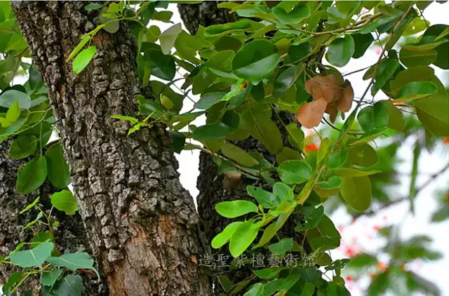
M 301 184 L 311 177 L 312 169 L 305 161 L 284 161 L 278 168 L 279 177 L 286 184 Z

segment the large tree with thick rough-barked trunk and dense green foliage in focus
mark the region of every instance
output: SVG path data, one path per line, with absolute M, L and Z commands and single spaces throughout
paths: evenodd
M 377 196 L 382 191 L 377 190 L 382 180 L 377 174 L 391 173 L 380 166 L 387 156 L 369 143 L 382 135 L 404 138 L 416 129 L 425 130 L 429 147 L 438 136 L 449 135 L 443 112 L 448 95 L 428 67 L 448 68 L 449 31 L 422 19 L 419 12 L 427 5 L 182 4 L 187 34 L 178 24 L 162 33 L 151 24 L 170 20 L 172 13 L 161 10 L 167 7 L 163 1 L 139 6 L 15 2 L 26 43 L 2 6 L 11 36 L 2 44 L 0 139 L 12 138 L 17 153 L 30 157 L 18 171 L 16 189 L 27 194 L 48 179 L 62 189 L 51 196 L 52 206 L 74 213 L 74 197 L 66 189 L 67 159 L 85 231 L 110 295 L 348 295 L 341 270 L 349 260 L 333 260 L 326 253 L 340 245 L 340 234 L 321 203 L 334 201 L 361 213 L 373 197 L 381 204 L 391 202 Z M 416 43 L 402 46 L 399 53 L 392 49 L 401 35 L 422 31 Z M 383 51 L 366 71 L 369 85 L 351 109 L 354 90 L 337 67 L 363 56 L 375 41 L 372 32 Z M 20 64 L 27 48 L 33 65 Z M 332 66 L 321 62 L 325 53 Z M 29 81 L 25 87 L 9 86 L 20 68 Z M 173 90 L 177 71 L 185 83 Z M 39 72 L 46 89 L 39 86 Z M 201 95 L 194 105 L 201 111 L 180 114 L 189 92 Z M 376 102 L 380 92 L 390 99 Z M 46 93 L 52 109 L 41 99 Z M 404 118 L 398 106 L 416 110 L 419 121 Z M 337 114 L 344 118 L 346 112 L 347 119 L 335 123 Z M 203 114 L 206 125 L 193 126 Z M 319 134 L 319 149 L 311 152 L 301 127 L 322 120 L 337 132 Z M 53 126 L 62 146 L 47 144 Z M 173 151 L 182 149 L 203 152 L 199 213 L 175 171 Z M 418 143 L 416 158 L 420 149 Z M 415 167 L 414 172 L 416 179 Z M 411 209 L 418 191 L 412 182 Z M 69 208 L 61 208 L 60 200 Z M 51 236 L 13 253 L 6 264 L 29 274 L 54 273 L 51 284 L 41 280 L 49 295 L 67 285 L 80 295 L 80 266 L 62 263 L 67 258 L 61 257 L 82 257 L 81 269 L 96 272 L 93 260 L 87 253 L 52 254 L 57 239 Z M 409 250 L 422 241 L 427 238 L 398 245 Z M 230 271 L 203 267 L 213 266 L 210 242 L 223 250 L 217 250 L 221 255 L 235 258 Z M 30 253 L 39 254 L 39 260 L 29 262 Z M 254 268 L 250 260 L 257 255 L 264 255 L 262 262 L 282 262 L 281 267 Z M 423 256 L 438 257 L 430 250 Z M 295 266 L 286 264 L 289 258 Z M 387 289 L 382 278 L 401 272 L 394 267 L 413 258 L 398 256 L 373 281 L 370 294 Z M 43 262 L 48 264 L 42 267 Z M 246 269 L 236 271 L 236 265 Z M 319 266 L 333 271 L 332 281 L 321 277 Z M 429 287 L 415 275 L 406 276 L 413 283 L 409 290 Z M 10 276 L 7 285 L 15 290 L 21 283 L 22 278 Z

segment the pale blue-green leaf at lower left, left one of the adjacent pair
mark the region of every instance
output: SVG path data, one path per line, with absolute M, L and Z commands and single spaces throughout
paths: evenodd
M 53 251 L 53 243 L 46 241 L 37 245 L 36 248 L 31 250 L 18 251 L 11 254 L 11 262 L 19 267 L 41 267 L 43 262 L 51 256 Z

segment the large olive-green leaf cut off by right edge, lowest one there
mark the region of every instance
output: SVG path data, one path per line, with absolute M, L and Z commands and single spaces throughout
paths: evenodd
M 416 113 L 422 125 L 438 136 L 449 135 L 449 99 L 431 95 L 415 102 Z

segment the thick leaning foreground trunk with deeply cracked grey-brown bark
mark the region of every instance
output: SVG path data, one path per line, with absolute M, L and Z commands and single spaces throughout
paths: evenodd
M 65 59 L 98 25 L 86 2 L 18 2 L 14 11 L 46 82 L 89 241 L 110 295 L 210 295 L 192 197 L 161 126 L 127 136 L 135 116 L 135 48 L 126 23 L 100 31 L 81 74 Z

